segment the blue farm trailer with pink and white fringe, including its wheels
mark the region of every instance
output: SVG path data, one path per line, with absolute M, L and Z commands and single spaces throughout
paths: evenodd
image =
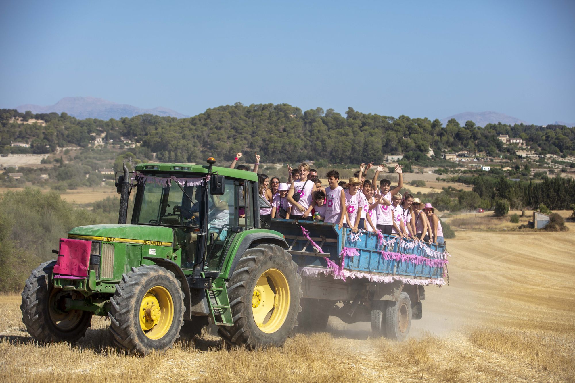
M 272 219 L 302 277 L 300 327 L 323 330 L 329 316 L 371 322 L 375 335 L 403 340 L 421 319 L 424 286 L 444 285 L 445 245 L 323 222 Z

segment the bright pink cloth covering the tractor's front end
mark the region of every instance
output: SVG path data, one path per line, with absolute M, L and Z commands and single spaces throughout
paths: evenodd
M 91 247 L 90 241 L 60 238 L 60 251 L 52 273 L 87 277 Z

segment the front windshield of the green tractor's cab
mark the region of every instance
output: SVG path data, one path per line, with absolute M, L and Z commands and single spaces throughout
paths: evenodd
M 199 227 L 203 177 L 137 174 L 132 224 Z

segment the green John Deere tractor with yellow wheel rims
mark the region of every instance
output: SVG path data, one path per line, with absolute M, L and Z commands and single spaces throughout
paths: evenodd
M 297 265 L 283 235 L 260 228 L 256 174 L 214 163 L 124 166 L 118 224 L 71 229 L 26 281 L 29 334 L 74 341 L 101 315 L 133 354 L 166 350 L 208 320 L 229 344 L 283 344 L 301 311 Z

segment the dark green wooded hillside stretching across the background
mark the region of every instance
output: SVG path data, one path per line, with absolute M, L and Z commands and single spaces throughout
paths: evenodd
M 22 123 L 32 119 L 44 122 Z M 564 125 L 478 127 L 471 121 L 462 126 L 451 119 L 443 126 L 437 119 L 395 118 L 356 112 L 353 108 L 342 116 L 333 109 L 303 112 L 287 104 L 236 103 L 190 118 L 141 114 L 108 121 L 78 120 L 66 113 L 2 109 L 0 125 L 0 148 L 4 154 L 43 154 L 67 145 L 87 147 L 95 134 L 104 132 L 107 142 L 141 143 L 142 156 L 151 158 L 155 152 L 163 162 L 197 162 L 206 156 L 227 162 L 237 151 L 244 152 L 248 162 L 258 152 L 266 162 L 316 160 L 332 164 L 381 163 L 389 154 L 403 154 L 405 160 L 417 162 L 424 160 L 430 147 L 438 157 L 442 151 L 459 150 L 489 156 L 515 154 L 513 146 L 497 139 L 499 135 L 520 137 L 540 155 L 575 154 L 575 133 Z M 29 143 L 30 148 L 11 147 L 13 142 Z

